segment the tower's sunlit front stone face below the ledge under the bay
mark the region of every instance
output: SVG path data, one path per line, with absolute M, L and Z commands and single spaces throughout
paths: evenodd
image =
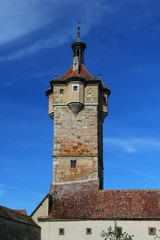
M 68 106 L 54 107 L 53 182 L 98 178 L 97 121 L 97 106 L 85 106 L 77 117 Z

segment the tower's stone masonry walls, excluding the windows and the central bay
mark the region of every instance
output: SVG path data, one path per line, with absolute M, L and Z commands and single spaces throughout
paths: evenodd
M 74 85 L 75 83 L 73 83 Z M 54 86 L 53 183 L 100 178 L 103 187 L 102 123 L 99 87 L 84 88 L 84 107 L 77 116 L 68 107 L 70 84 Z M 63 94 L 60 94 L 63 89 Z M 81 93 L 80 93 L 81 94 Z M 71 167 L 76 161 L 76 167 Z

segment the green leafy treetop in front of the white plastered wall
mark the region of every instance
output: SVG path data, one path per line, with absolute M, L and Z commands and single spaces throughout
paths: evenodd
M 102 231 L 101 237 L 104 238 L 104 240 L 133 240 L 133 235 L 129 235 L 126 232 L 122 232 L 122 228 L 117 226 L 117 223 L 114 223 L 114 227 L 109 227 L 107 229 L 107 232 Z

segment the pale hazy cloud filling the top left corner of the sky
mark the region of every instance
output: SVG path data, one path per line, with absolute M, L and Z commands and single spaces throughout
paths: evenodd
M 51 21 L 50 16 L 47 16 L 48 9 L 45 2 L 44 0 L 1 0 L 0 44 L 24 36 Z

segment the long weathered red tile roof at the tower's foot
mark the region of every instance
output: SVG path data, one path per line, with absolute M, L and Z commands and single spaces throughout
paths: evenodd
M 98 190 L 92 181 L 51 185 L 53 219 L 160 219 L 160 190 Z

